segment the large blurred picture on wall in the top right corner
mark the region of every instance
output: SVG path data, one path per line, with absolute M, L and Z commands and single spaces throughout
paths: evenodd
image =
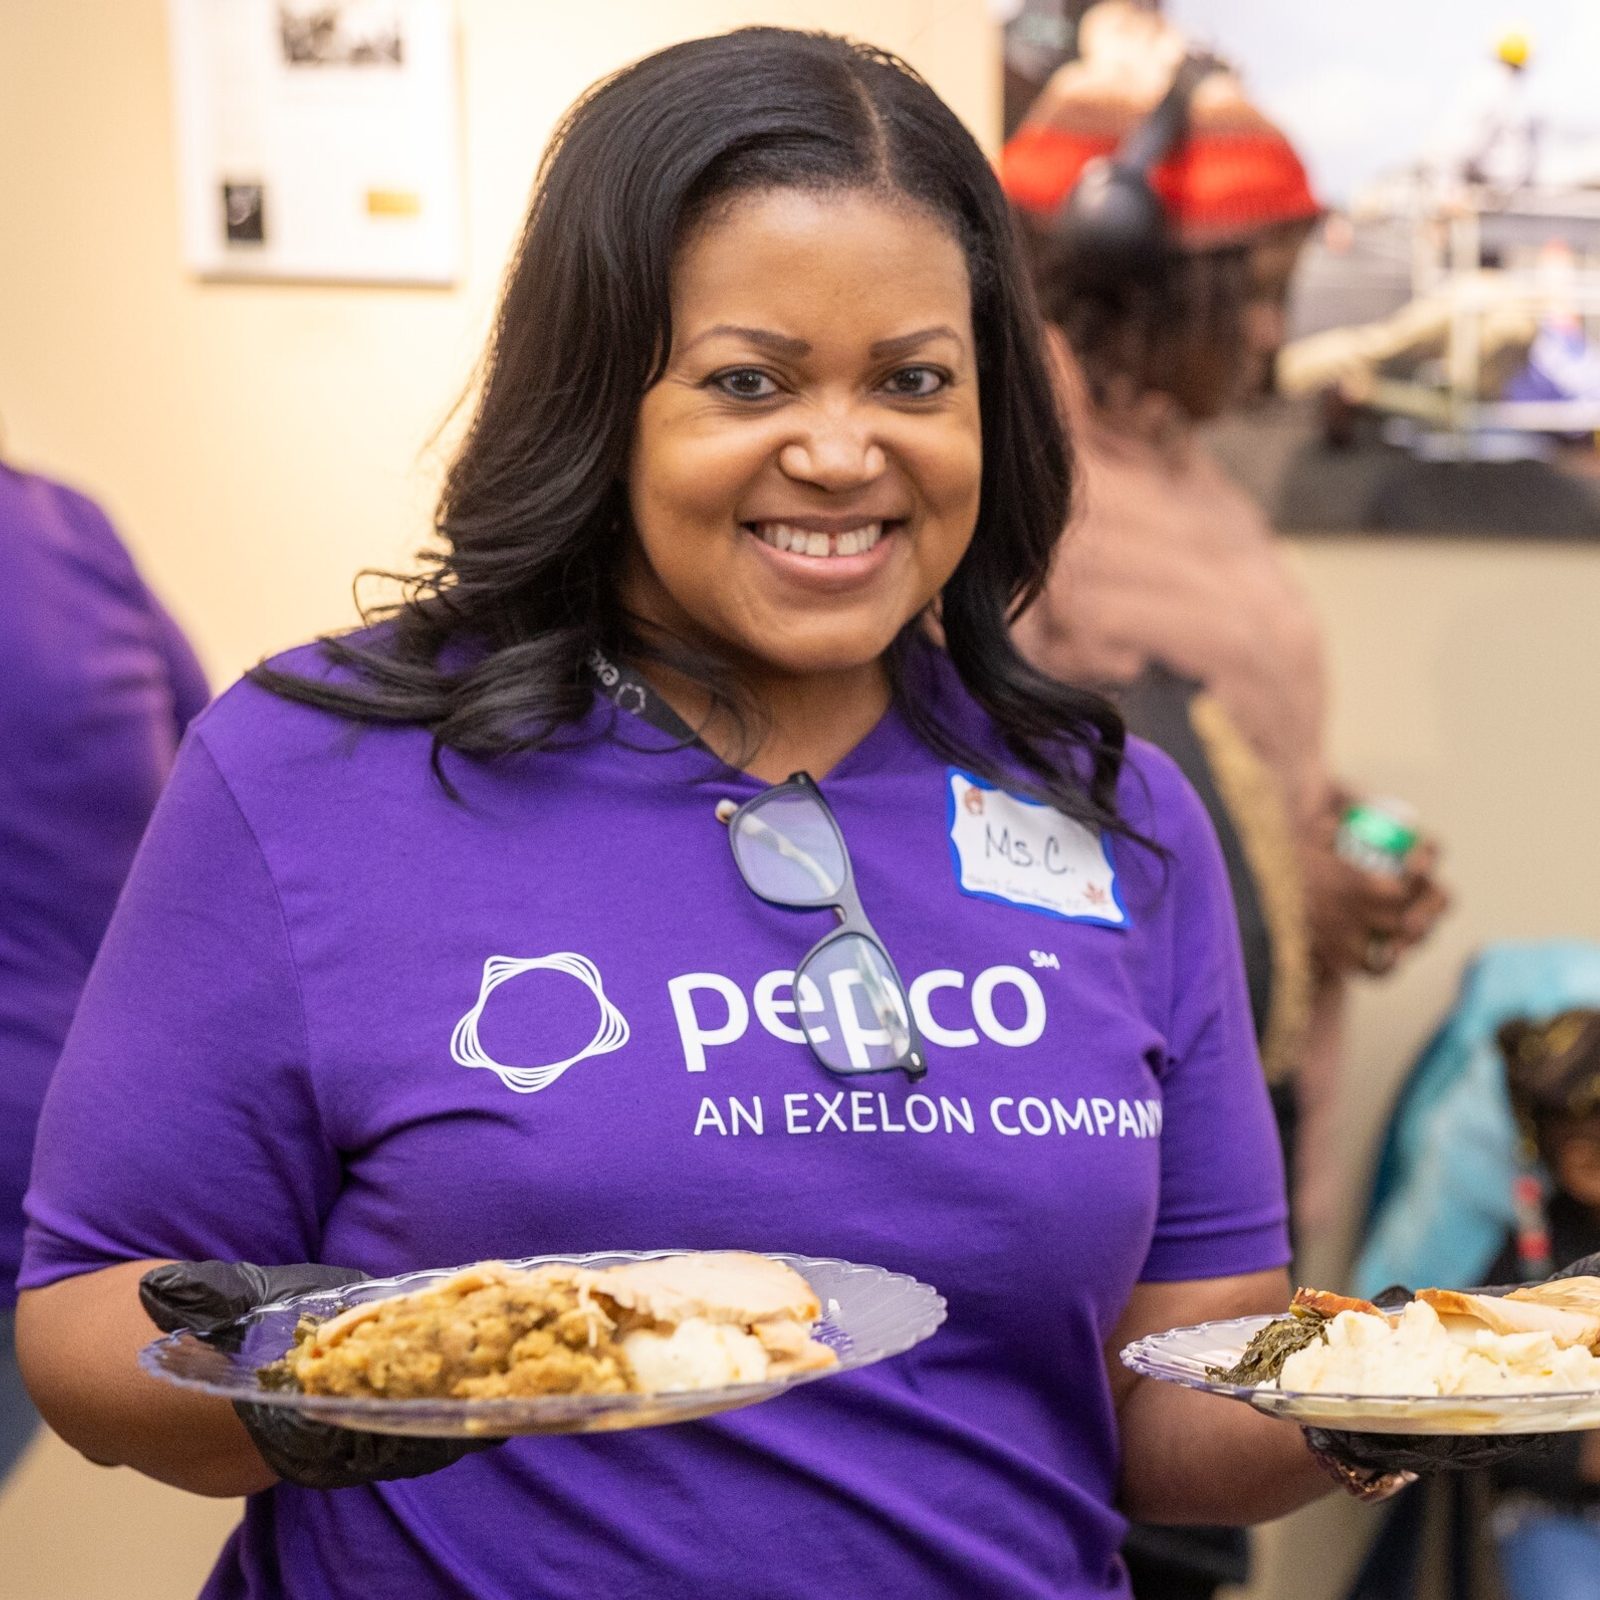
M 1600 13 L 1165 13 L 1238 66 L 1326 205 L 1272 395 L 1226 430 L 1280 526 L 1600 536 Z

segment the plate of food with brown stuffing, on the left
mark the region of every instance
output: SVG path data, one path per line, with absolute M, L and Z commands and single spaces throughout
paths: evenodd
M 883 1267 L 746 1251 L 528 1256 L 365 1278 L 171 1333 L 146 1371 L 376 1434 L 509 1438 L 686 1422 L 926 1339 L 944 1299 Z

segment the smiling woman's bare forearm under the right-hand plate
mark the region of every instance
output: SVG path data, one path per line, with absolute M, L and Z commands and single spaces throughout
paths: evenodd
M 1333 1488 L 1293 1422 L 1176 1384 L 1136 1386 L 1122 1445 L 1122 1506 L 1141 1522 L 1270 1522 Z

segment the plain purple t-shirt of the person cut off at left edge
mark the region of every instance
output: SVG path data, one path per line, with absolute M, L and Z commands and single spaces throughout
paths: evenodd
M 0 1309 L 34 1123 L 205 677 L 106 515 L 0 466 Z

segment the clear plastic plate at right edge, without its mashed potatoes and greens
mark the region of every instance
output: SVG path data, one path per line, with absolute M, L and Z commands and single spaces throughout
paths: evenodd
M 1171 1328 L 1122 1352 L 1123 1366 L 1189 1389 L 1243 1400 L 1258 1411 L 1362 1434 L 1571 1434 L 1600 1427 L 1600 1389 L 1515 1395 L 1331 1395 L 1219 1384 L 1208 1366 L 1232 1366 L 1272 1317 L 1234 1317 Z

